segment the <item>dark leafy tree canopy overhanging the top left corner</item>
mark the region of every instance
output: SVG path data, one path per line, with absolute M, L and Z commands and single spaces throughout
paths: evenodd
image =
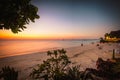
M 39 18 L 37 12 L 31 0 L 0 0 L 0 29 L 21 32 L 26 24 Z

